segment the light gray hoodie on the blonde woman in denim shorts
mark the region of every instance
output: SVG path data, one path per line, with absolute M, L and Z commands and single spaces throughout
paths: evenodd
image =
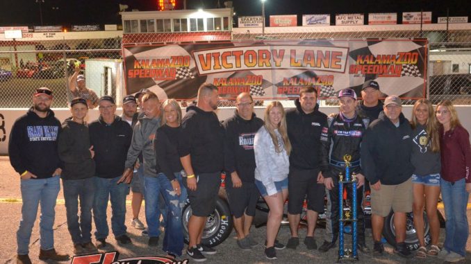
M 254 152 L 255 152 L 255 179 L 263 183 L 267 189 L 268 195 L 276 193 L 274 182 L 281 182 L 288 177 L 290 172 L 290 158 L 286 153 L 283 139 L 278 130 L 274 130 L 278 137 L 278 144 L 281 146 L 281 152 L 276 152 L 272 137 L 265 126 L 261 127 L 255 134 Z

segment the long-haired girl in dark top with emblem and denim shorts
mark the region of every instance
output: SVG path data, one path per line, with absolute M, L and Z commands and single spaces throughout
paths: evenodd
M 415 102 L 411 127 L 414 143 L 411 162 L 415 167 L 413 182 L 413 220 L 420 247 L 416 256 L 436 256 L 440 252 L 438 237 L 440 222 L 437 214 L 440 195 L 440 136 L 433 106 L 427 99 Z M 429 218 L 431 246 L 427 251 L 424 241 L 424 206 Z

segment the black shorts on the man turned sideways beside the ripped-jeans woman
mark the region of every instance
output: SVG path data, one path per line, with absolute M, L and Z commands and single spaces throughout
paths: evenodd
M 195 216 L 209 216 L 216 209 L 217 194 L 221 185 L 221 173 L 199 173 L 197 178 L 197 189 L 191 191 L 186 178 L 183 177 L 183 184 L 188 192 L 192 214 Z

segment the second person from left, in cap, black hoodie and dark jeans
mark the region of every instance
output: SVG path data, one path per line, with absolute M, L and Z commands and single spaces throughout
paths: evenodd
M 88 113 L 87 100 L 80 97 L 72 99 L 70 112 L 72 118 L 64 121 L 60 132 L 58 151 L 59 158 L 63 162 L 61 177 L 67 228 L 74 243 L 74 254 L 80 255 L 85 252 L 97 252 L 91 234 L 95 163 L 88 125 L 84 121 Z M 80 222 L 78 199 L 80 199 Z

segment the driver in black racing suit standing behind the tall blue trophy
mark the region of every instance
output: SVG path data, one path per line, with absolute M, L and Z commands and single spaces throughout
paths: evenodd
M 345 175 L 344 156 L 352 157 L 349 168 L 350 173 L 356 174 L 358 179 L 356 196 L 356 208 L 358 219 L 358 249 L 363 253 L 370 252 L 365 243 L 365 216 L 363 215 L 362 200 L 365 177 L 360 167 L 360 144 L 363 133 L 370 123 L 370 119 L 356 112 L 356 94 L 353 89 L 342 89 L 338 93 L 340 100 L 340 112 L 329 116 L 327 123 L 322 127 L 321 134 L 321 169 L 324 177 L 324 185 L 327 193 L 326 231 L 324 244 L 319 248 L 321 252 L 327 252 L 336 245 L 338 237 L 338 181 L 339 175 Z M 332 146 L 332 150 L 331 150 Z M 331 150 L 331 151 L 330 151 Z M 352 184 L 346 184 L 348 199 L 352 201 Z

